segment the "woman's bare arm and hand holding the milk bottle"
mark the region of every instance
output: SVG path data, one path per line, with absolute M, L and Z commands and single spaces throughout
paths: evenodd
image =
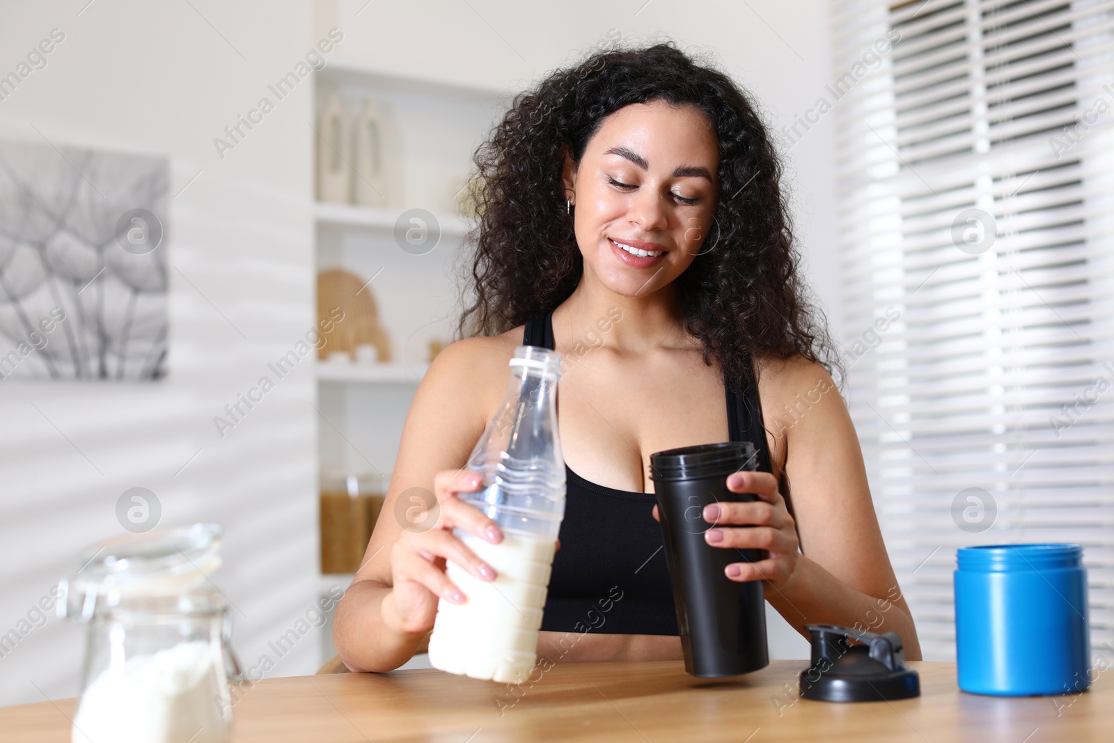
M 463 600 L 444 576 L 446 559 L 495 577 L 451 528 L 501 539 L 495 524 L 456 493 L 479 485 L 461 468 L 498 405 L 512 351 L 499 339 L 453 343 L 418 387 L 383 509 L 333 620 L 333 643 L 350 671 L 399 667 L 432 628 L 438 600 Z

